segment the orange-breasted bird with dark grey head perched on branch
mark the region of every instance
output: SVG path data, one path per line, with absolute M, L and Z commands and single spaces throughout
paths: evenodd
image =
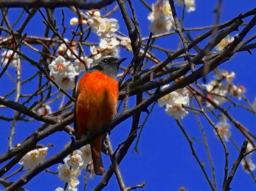
M 117 72 L 125 60 L 113 56 L 103 56 L 95 60 L 81 77 L 76 92 L 74 109 L 74 129 L 76 138 L 98 131 L 111 121 L 116 114 L 119 97 Z M 103 175 L 101 157 L 105 135 L 100 135 L 91 143 L 91 154 L 95 174 Z

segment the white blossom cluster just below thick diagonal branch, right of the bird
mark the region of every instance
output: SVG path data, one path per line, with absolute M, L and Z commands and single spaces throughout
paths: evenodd
M 169 85 L 163 86 L 163 88 Z M 177 91 L 171 92 L 164 97 L 158 99 L 159 106 L 165 107 L 165 112 L 173 116 L 175 119 L 183 119 L 188 115 L 183 106 L 189 105 L 189 93 L 186 88 L 179 89 Z

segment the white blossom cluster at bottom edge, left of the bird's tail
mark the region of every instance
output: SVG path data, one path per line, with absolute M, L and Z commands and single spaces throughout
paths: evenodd
M 75 150 L 72 155 L 68 155 L 63 159 L 64 164 L 58 166 L 59 179 L 68 183 L 67 191 L 77 191 L 79 184 L 78 176 L 81 174 L 82 169 L 88 169 L 90 172 L 90 179 L 95 175 L 93 171 L 91 147 L 86 145 L 79 150 Z M 63 190 L 57 188 L 57 190 Z

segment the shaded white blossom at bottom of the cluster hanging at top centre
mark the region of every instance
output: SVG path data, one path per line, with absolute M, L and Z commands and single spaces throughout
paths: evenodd
M 170 20 L 159 18 L 151 22 L 148 29 L 154 34 L 167 33 L 173 27 L 173 23 Z

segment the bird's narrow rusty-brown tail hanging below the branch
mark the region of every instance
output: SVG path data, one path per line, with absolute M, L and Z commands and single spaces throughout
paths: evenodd
M 94 172 L 97 175 L 104 174 L 104 167 L 101 158 L 101 147 L 104 139 L 104 135 L 97 137 L 91 144 L 92 162 Z

